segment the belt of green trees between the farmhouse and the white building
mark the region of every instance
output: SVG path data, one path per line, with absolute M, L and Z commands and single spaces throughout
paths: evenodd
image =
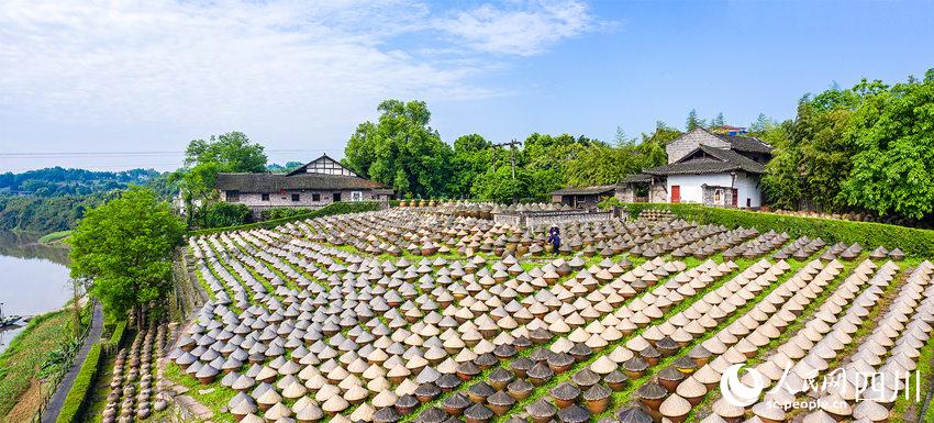
M 520 147 L 494 146 L 480 134 L 467 134 L 452 148 L 429 126 L 424 102 L 386 100 L 378 110 L 377 122 L 363 122 L 351 135 L 343 164 L 391 186 L 400 197 L 543 200 L 568 185 L 615 183 L 664 164 L 663 144 L 681 135 L 659 122 L 641 140 L 629 140 L 619 129 L 614 145 L 582 135 L 532 133 Z

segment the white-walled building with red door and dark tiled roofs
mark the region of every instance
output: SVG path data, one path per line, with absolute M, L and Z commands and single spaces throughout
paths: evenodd
M 667 165 L 626 177 L 616 197 L 744 209 L 763 205 L 759 179 L 771 158 L 771 146 L 761 140 L 697 129 L 669 142 L 665 149 Z

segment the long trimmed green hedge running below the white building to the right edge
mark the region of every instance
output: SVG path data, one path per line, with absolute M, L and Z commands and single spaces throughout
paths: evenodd
M 859 243 L 866 248 L 881 245 L 901 248 L 914 257 L 934 257 L 934 231 L 874 222 L 854 222 L 834 219 L 793 216 L 736 209 L 710 208 L 700 204 L 627 203 L 633 216 L 644 209 L 671 210 L 679 218 L 699 223 L 720 224 L 727 227 L 755 227 L 775 230 L 791 236 L 821 237 L 829 243 Z

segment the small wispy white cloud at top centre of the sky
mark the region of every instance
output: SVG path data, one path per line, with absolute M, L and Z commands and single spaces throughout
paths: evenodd
M 436 19 L 433 26 L 479 51 L 530 56 L 600 25 L 578 0 L 534 0 L 508 8 L 486 3 Z

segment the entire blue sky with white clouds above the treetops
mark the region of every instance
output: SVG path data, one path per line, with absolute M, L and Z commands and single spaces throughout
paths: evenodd
M 273 162 L 341 156 L 386 98 L 427 101 L 447 142 L 612 140 L 690 109 L 746 125 L 834 81 L 923 75 L 932 16 L 926 1 L 11 0 L 0 171 L 166 170 L 230 130 Z

